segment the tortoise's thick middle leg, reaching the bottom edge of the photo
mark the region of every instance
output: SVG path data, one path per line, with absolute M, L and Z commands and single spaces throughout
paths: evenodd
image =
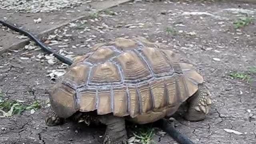
M 103 144 L 126 144 L 127 133 L 123 117 L 108 114 L 99 116 L 99 120 L 107 126 Z

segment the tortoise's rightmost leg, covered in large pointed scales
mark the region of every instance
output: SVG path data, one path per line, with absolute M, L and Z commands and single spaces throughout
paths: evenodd
M 212 100 L 209 90 L 203 85 L 198 85 L 198 91 L 188 99 L 188 111 L 185 119 L 189 121 L 203 120 L 210 111 Z

